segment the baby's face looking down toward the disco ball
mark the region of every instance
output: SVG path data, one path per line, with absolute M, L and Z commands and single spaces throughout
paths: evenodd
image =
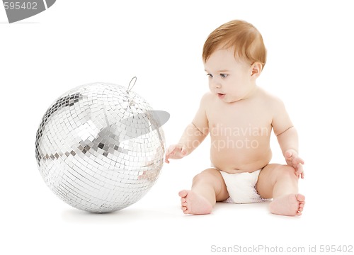
M 204 67 L 210 91 L 226 103 L 247 98 L 256 88 L 251 65 L 236 60 L 233 48 L 216 50 Z

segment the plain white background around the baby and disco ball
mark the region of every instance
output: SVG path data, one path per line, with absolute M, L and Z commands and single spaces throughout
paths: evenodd
M 353 245 L 350 2 L 57 0 L 12 24 L 0 6 L 0 254 L 215 254 L 212 245 L 311 245 L 320 254 L 321 244 Z M 299 132 L 301 217 L 270 215 L 266 203 L 183 215 L 177 193 L 208 166 L 207 141 L 165 164 L 147 196 L 112 214 L 71 208 L 45 186 L 35 132 L 55 98 L 137 76 L 134 90 L 171 113 L 166 144 L 178 142 L 207 91 L 202 45 L 232 19 L 261 31 L 268 62 L 258 85 L 282 98 Z M 284 163 L 272 141 L 272 162 Z

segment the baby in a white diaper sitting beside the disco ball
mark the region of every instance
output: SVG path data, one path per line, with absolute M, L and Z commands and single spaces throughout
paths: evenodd
M 191 190 L 178 194 L 185 214 L 208 214 L 218 201 L 270 198 L 270 212 L 302 214 L 298 180 L 304 178 L 304 161 L 298 157 L 297 131 L 282 101 L 256 85 L 265 59 L 261 33 L 245 21 L 225 23 L 207 38 L 202 60 L 210 92 L 165 158 L 169 163 L 187 156 L 210 134 L 210 168 L 194 177 Z M 269 164 L 272 128 L 287 165 Z

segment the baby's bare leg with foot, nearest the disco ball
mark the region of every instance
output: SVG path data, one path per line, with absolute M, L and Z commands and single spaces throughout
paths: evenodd
M 229 198 L 222 175 L 217 169 L 206 169 L 193 178 L 192 190 L 183 190 L 182 210 L 185 214 L 204 215 L 212 212 L 217 201 Z

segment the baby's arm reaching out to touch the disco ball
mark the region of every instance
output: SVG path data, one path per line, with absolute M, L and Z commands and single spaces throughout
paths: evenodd
M 181 159 L 187 156 L 202 143 L 209 133 L 207 115 L 205 108 L 207 106 L 207 94 L 202 96 L 200 106 L 195 117 L 187 128 L 185 128 L 178 144 L 171 145 L 166 151 L 165 162 L 169 163 L 169 159 Z

